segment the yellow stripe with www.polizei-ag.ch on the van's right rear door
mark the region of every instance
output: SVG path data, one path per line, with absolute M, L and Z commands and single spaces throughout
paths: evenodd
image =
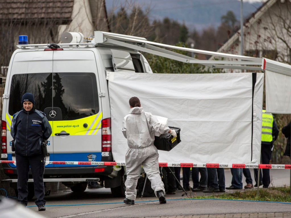
M 102 119 L 102 112 L 89 117 L 76 120 L 49 121 L 53 133 L 69 133 L 70 135 L 91 135 L 93 131 L 97 132 L 100 128 L 96 127 Z M 86 127 L 85 127 L 86 126 Z

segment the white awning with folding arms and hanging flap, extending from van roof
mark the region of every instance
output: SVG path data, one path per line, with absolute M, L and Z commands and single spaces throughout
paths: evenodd
M 154 55 L 170 58 L 173 60 L 196 63 L 212 68 L 222 69 L 242 69 L 253 72 L 266 72 L 266 110 L 273 113 L 291 113 L 291 66 L 267 58 L 254 58 L 248 56 L 204 51 L 185 47 L 172 46 L 157 42 L 150 42 L 143 37 L 135 37 L 116 33 L 95 31 L 96 43 L 109 43 L 118 46 L 147 52 Z M 198 60 L 185 56 L 168 49 L 178 49 L 193 53 L 200 53 L 215 56 L 218 58 L 228 58 L 232 60 Z

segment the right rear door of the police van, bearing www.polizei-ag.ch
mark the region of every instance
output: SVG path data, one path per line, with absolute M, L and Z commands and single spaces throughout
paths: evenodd
M 93 51 L 54 51 L 52 81 L 52 105 L 45 113 L 52 121 L 54 161 L 101 161 L 102 107 Z

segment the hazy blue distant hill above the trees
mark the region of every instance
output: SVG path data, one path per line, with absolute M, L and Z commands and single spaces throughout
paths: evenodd
M 125 0 L 105 0 L 108 13 L 112 6 L 120 6 Z M 218 27 L 221 16 L 231 10 L 240 20 L 240 1 L 238 0 L 135 0 L 142 8 L 150 7 L 150 20 L 163 20 L 168 17 L 185 23 L 189 31 L 201 31 L 209 26 Z M 123 4 L 124 5 L 124 4 Z M 249 17 L 262 5 L 261 2 L 243 1 L 243 16 Z

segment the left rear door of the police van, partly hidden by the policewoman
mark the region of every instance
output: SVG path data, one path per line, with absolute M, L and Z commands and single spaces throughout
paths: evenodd
M 19 110 L 22 110 L 21 97 L 26 92 L 31 92 L 34 95 L 35 105 L 37 110 L 44 111 L 45 105 L 52 104 L 52 58 L 53 51 L 24 51 L 17 52 L 13 57 L 10 66 L 10 74 L 6 80 L 8 87 L 9 99 L 6 105 L 6 122 L 7 122 L 7 142 L 11 142 L 10 135 L 12 116 Z M 50 123 L 52 124 L 52 123 Z M 49 138 L 47 150 L 52 154 L 52 137 Z M 11 143 L 10 143 L 11 144 Z M 46 167 L 51 156 L 46 158 Z M 8 150 L 8 160 L 15 160 L 15 154 L 11 152 L 11 147 Z M 11 167 L 16 167 L 15 164 L 9 164 Z

